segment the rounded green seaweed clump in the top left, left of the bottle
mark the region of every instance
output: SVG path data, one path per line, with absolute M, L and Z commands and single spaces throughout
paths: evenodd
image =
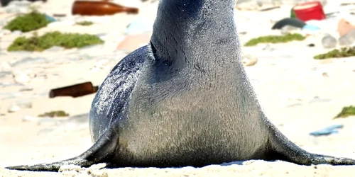
M 45 15 L 38 11 L 32 11 L 21 16 L 17 16 L 12 21 L 4 26 L 6 30 L 21 30 L 22 32 L 28 32 L 31 30 L 38 30 L 48 25 L 50 21 L 45 18 Z

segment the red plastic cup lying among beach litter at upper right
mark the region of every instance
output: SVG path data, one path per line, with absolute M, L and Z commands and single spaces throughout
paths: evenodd
M 293 11 L 295 12 L 295 16 L 301 21 L 320 21 L 326 18 L 322 4 L 319 1 L 297 4 L 293 7 Z

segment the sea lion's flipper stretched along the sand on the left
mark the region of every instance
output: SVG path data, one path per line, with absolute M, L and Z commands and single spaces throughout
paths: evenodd
M 58 171 L 63 165 L 78 165 L 81 167 L 89 167 L 92 164 L 107 162 L 106 158 L 113 154 L 117 144 L 119 144 L 118 123 L 112 122 L 104 134 L 95 142 L 92 147 L 80 156 L 63 161 L 57 161 L 48 164 L 37 164 L 33 166 L 9 166 L 5 169 L 26 170 L 26 171 Z

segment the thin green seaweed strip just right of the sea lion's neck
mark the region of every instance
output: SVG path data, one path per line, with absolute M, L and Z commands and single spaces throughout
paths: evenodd
M 305 36 L 297 33 L 288 33 L 286 35 L 266 35 L 258 38 L 253 38 L 246 42 L 244 46 L 254 46 L 259 43 L 285 43 L 293 40 L 305 40 Z

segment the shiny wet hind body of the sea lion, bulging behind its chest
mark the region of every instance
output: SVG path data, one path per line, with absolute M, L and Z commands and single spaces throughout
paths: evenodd
M 104 79 L 89 112 L 89 131 L 96 142 L 107 127 L 127 108 L 136 81 L 151 48 L 146 45 L 126 55 Z

